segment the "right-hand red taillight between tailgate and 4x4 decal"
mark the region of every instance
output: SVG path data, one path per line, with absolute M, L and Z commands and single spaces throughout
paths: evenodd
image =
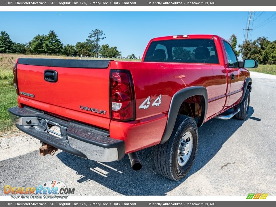
M 135 119 L 134 88 L 127 70 L 110 71 L 110 111 L 112 119 Z

